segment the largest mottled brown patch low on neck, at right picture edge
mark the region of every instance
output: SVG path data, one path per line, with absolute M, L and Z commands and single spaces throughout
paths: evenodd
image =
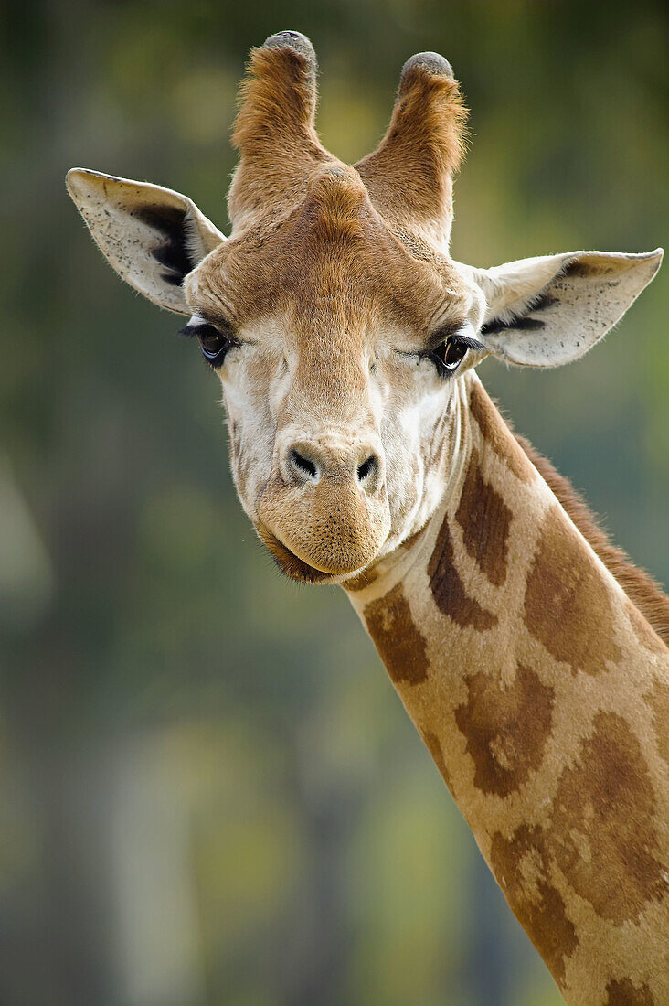
M 573 768 L 562 773 L 547 843 L 570 886 L 617 925 L 637 920 L 667 892 L 653 823 L 658 807 L 630 726 L 600 712 Z

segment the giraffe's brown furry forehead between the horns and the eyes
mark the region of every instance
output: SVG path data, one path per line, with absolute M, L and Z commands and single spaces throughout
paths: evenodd
M 202 306 L 237 324 L 289 312 L 310 330 L 384 319 L 424 332 L 464 318 L 468 281 L 415 235 L 392 232 L 359 185 L 354 198 L 317 187 L 284 218 L 233 234 L 195 271 Z

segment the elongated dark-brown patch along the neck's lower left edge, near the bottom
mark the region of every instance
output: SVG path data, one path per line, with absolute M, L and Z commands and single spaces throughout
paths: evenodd
M 561 988 L 565 962 L 579 941 L 562 896 L 550 882 L 541 828 L 521 825 L 510 839 L 497 832 L 490 865 L 511 910 Z

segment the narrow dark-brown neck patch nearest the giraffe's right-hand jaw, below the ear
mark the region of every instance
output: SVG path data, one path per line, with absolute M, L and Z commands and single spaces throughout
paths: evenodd
M 463 529 L 465 548 L 491 583 L 506 579 L 507 539 L 511 511 L 481 475 L 479 455 L 472 450 L 456 520 Z

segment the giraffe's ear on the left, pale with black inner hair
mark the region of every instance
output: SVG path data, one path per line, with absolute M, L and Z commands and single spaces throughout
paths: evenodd
M 119 276 L 161 308 L 190 314 L 184 277 L 221 241 L 185 195 L 161 185 L 72 168 L 67 190 Z

